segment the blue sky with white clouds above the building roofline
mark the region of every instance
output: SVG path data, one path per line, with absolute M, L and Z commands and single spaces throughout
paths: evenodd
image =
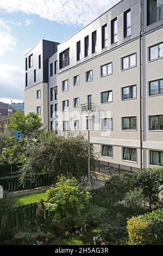
M 24 54 L 62 42 L 120 0 L 0 0 L 0 101 L 22 102 Z

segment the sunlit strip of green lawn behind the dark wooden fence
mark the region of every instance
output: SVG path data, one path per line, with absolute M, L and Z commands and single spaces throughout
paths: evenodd
M 38 192 L 38 193 L 31 193 L 31 194 L 24 194 L 20 196 L 15 196 L 15 206 L 21 206 L 26 204 L 31 204 L 35 202 L 39 202 L 41 199 L 46 200 L 46 191 L 45 192 Z

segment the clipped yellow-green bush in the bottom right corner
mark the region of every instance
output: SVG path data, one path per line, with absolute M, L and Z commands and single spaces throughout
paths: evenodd
M 130 245 L 162 245 L 163 210 L 131 218 L 127 230 Z

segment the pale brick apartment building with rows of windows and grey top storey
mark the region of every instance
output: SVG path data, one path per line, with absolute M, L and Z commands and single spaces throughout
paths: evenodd
M 49 130 L 89 129 L 104 166 L 163 166 L 162 66 L 163 0 L 122 0 L 57 45 L 41 95 L 46 111 L 37 113 Z M 37 90 L 26 83 L 25 113 L 36 111 Z

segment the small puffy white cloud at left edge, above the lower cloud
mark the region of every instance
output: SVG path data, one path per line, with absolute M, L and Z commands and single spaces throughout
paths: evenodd
M 16 46 L 16 38 L 11 35 L 11 27 L 7 21 L 0 19 L 0 57 L 7 51 L 14 50 Z

